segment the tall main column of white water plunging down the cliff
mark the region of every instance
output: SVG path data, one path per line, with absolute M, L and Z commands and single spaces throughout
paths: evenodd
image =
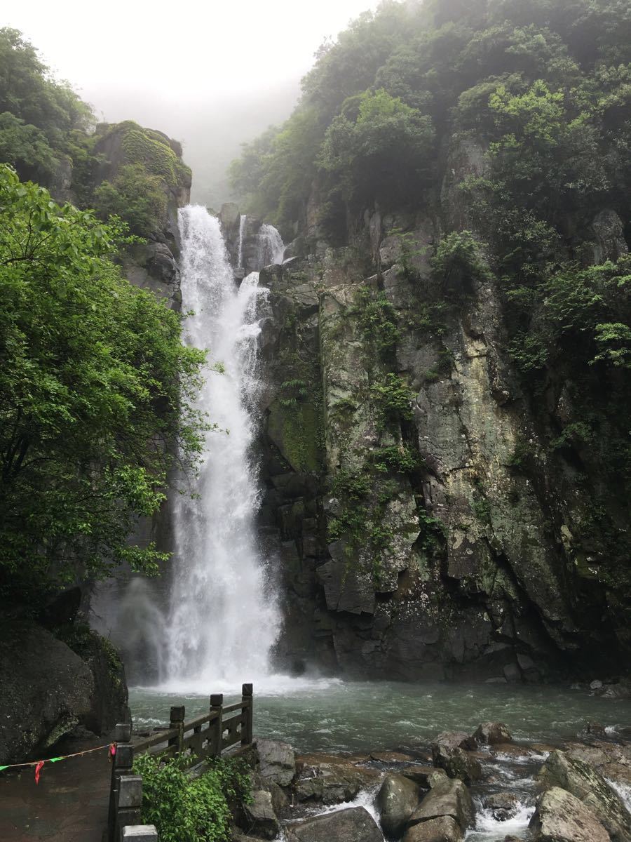
M 269 671 L 280 615 L 268 562 L 257 548 L 257 468 L 252 459 L 260 333 L 267 290 L 252 273 L 237 289 L 220 223 L 201 206 L 179 212 L 183 239 L 185 341 L 209 349 L 198 405 L 219 430 L 206 434 L 194 491 L 174 504 L 174 577 L 166 622 L 163 683 L 204 692 Z M 215 372 L 212 366 L 223 370 Z

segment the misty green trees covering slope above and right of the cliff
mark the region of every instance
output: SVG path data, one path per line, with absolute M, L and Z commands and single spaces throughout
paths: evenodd
M 258 213 L 337 244 L 375 205 L 440 216 L 448 156 L 472 149 L 478 174 L 454 185 L 471 231 L 437 242 L 419 307 L 497 282 L 524 385 L 574 381 L 580 426 L 555 440 L 579 447 L 582 431 L 614 472 L 628 462 L 629 35 L 618 0 L 388 0 L 323 46 L 294 115 L 232 165 Z M 623 221 L 606 254 L 603 209 Z M 393 233 L 413 274 L 414 235 Z

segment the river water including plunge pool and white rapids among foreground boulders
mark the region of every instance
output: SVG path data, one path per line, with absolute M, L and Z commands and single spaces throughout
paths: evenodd
M 228 686 L 214 685 L 211 690 L 225 690 L 225 701 L 233 701 Z M 173 704 L 186 705 L 187 717 L 194 717 L 207 710 L 209 694 L 173 695 L 143 687 L 130 691 L 139 729 L 166 724 Z M 517 744 L 544 744 L 522 756 L 489 754 L 483 769 L 492 782 L 471 787 L 475 828 L 466 834 L 465 842 L 503 842 L 507 834 L 528 839 L 536 797 L 533 777 L 547 756 L 547 746 L 574 740 L 587 720 L 600 722 L 611 738 L 631 737 L 631 701 L 551 685 L 399 684 L 275 676 L 258 689 L 254 686 L 255 734 L 291 743 L 304 753 L 398 750 L 422 756 L 438 733 L 473 733 L 487 720 L 505 722 Z M 360 792 L 353 802 L 313 812 L 365 807 L 379 821 L 378 788 Z M 498 820 L 484 802 L 493 792 L 517 797 L 517 814 Z M 618 788 L 618 792 L 631 807 L 631 788 Z

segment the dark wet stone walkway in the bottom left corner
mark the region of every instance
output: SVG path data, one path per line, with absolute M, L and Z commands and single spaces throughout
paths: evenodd
M 111 766 L 107 750 L 0 775 L 2 842 L 103 842 Z

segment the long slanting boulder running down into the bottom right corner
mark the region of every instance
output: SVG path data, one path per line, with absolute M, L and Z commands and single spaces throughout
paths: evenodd
M 538 771 L 537 779 L 546 789 L 560 787 L 583 802 L 605 826 L 612 842 L 631 839 L 631 814 L 618 792 L 593 766 L 562 751 L 553 751 Z

